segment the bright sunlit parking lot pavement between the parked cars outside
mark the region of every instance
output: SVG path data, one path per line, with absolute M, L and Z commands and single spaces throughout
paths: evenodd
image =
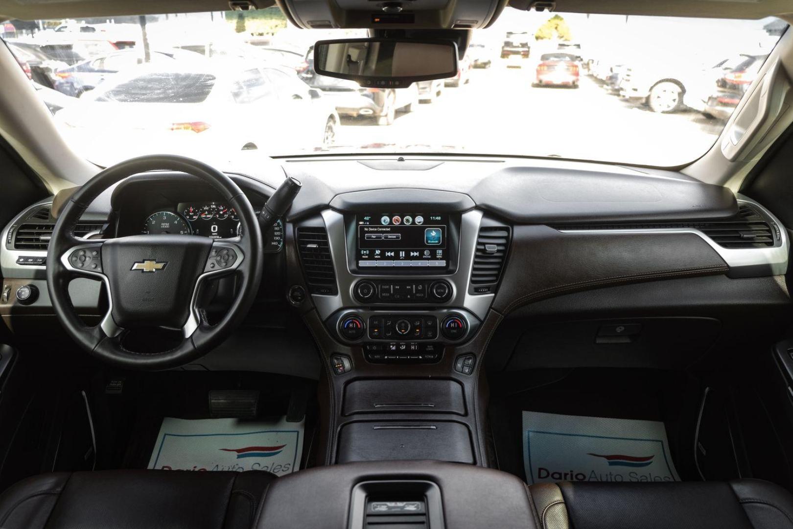
M 580 88 L 532 87 L 534 64 L 501 60 L 446 87 L 390 126 L 343 118 L 337 144 L 449 146 L 469 153 L 560 156 L 657 166 L 689 163 L 714 144 L 722 123 L 700 113 L 653 113 L 608 94 L 586 75 Z M 340 149 L 341 150 L 341 149 Z M 432 149 L 427 149 L 431 151 Z

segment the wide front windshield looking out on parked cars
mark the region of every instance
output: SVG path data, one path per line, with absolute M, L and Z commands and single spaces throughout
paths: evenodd
M 314 72 L 317 40 L 366 29 L 297 29 L 276 8 L 0 28 L 63 138 L 102 166 L 444 152 L 672 167 L 711 148 L 787 24 L 506 9 L 454 78 L 397 90 Z

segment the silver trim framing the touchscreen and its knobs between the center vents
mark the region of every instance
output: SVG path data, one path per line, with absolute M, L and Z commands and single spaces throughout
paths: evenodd
M 345 233 L 344 216 L 333 209 L 324 209 L 322 218 L 325 229 L 328 232 L 328 247 L 331 251 L 331 260 L 336 274 L 336 285 L 339 293 L 335 296 L 325 296 L 322 294 L 312 294 L 312 300 L 317 312 L 322 320 L 327 320 L 331 314 L 341 309 L 356 309 L 368 305 L 356 300 L 353 295 L 353 287 L 361 279 L 374 278 L 382 279 L 446 279 L 452 286 L 452 295 L 448 301 L 441 305 L 444 309 L 459 307 L 471 312 L 480 320 L 484 320 L 488 309 L 492 304 L 495 294 L 473 295 L 468 293 L 468 286 L 473 267 L 473 258 L 477 249 L 477 238 L 479 227 L 484 214 L 477 209 L 472 209 L 462 213 L 460 222 L 460 247 L 458 251 L 457 269 L 449 274 L 421 274 L 421 275 L 377 275 L 376 277 L 366 274 L 353 274 L 348 266 L 347 258 L 347 234 Z M 407 305 L 392 312 L 424 311 L 426 307 L 432 305 Z

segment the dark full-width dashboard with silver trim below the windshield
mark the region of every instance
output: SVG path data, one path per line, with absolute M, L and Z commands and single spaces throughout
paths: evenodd
M 357 370 L 360 362 L 456 362 L 448 351 L 466 353 L 487 339 L 492 315 L 508 328 L 524 308 L 569 293 L 631 283 L 665 293 L 657 279 L 704 276 L 714 290 L 696 292 L 711 302 L 749 284 L 741 278 L 768 280 L 751 293 L 776 292 L 787 270 L 787 231 L 776 217 L 747 197 L 672 171 L 435 156 L 284 159 L 228 174 L 255 210 L 285 174 L 303 183 L 287 215 L 264 234 L 268 280 L 256 310 L 268 318 L 286 318 L 289 310 L 316 315 L 333 340 L 328 347 L 348 351 L 353 364 L 357 358 Z M 25 308 L 11 302 L 17 286 L 46 292 L 42 236 L 55 221 L 46 204 L 21 212 L 2 234 L 9 317 L 49 310 L 44 295 Z M 79 235 L 86 237 L 239 233 L 236 212 L 212 188 L 174 173 L 128 178 L 94 201 L 83 221 Z M 737 222 L 745 223 L 737 231 L 744 240 L 719 240 L 722 225 Z M 75 303 L 95 312 L 99 289 Z M 515 335 L 525 331 L 521 321 Z M 308 344 L 311 336 L 303 336 Z M 292 351 L 291 335 L 278 340 Z M 245 343 L 250 347 L 236 349 L 259 351 L 256 339 Z M 500 347 L 504 364 L 514 347 Z

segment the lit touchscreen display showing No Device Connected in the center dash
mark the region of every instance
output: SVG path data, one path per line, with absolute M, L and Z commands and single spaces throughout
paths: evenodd
M 446 215 L 359 215 L 358 266 L 446 267 Z

